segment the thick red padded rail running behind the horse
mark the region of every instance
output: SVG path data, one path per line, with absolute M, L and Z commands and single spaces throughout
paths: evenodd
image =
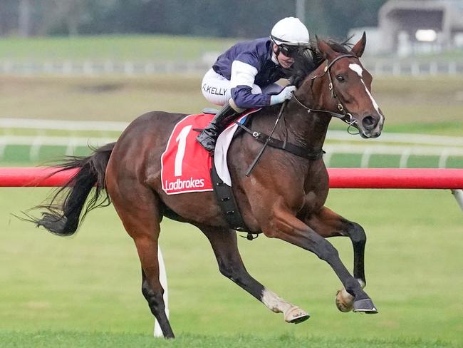
M 76 170 L 0 168 L 0 187 L 61 186 Z M 331 188 L 463 189 L 463 169 L 330 168 Z

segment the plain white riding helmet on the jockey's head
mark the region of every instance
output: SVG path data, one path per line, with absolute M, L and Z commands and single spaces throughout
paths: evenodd
M 295 17 L 286 17 L 276 22 L 270 38 L 276 45 L 307 46 L 309 44 L 306 26 Z

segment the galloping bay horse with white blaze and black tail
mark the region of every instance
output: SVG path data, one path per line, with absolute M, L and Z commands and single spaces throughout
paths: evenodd
M 376 313 L 373 301 L 363 290 L 365 232 L 357 223 L 324 206 L 328 173 L 321 156 L 333 116 L 357 128 L 363 138 L 376 138 L 383 129 L 383 113 L 370 93 L 372 76 L 359 61 L 365 42 L 365 33 L 353 46 L 317 39 L 311 58 L 294 63 L 298 67 L 293 72 L 298 89 L 283 111 L 284 123 L 278 124 L 274 138 L 315 155 L 266 148 L 259 164 L 246 176 L 262 145 L 243 132 L 231 144 L 228 160 L 233 193 L 249 232 L 313 252 L 328 262 L 343 284 L 336 296 L 338 309 Z M 254 113 L 248 127 L 269 133 L 279 108 Z M 282 312 L 286 322 L 303 322 L 309 317 L 307 312 L 283 300 L 246 271 L 236 232 L 229 228 L 214 193 L 167 195 L 162 190 L 160 158 L 172 129 L 185 116 L 145 113 L 130 123 L 116 143 L 104 145 L 88 157 L 65 160 L 60 170 L 77 168 L 76 175 L 58 189 L 51 203 L 41 206 L 46 211 L 33 222 L 56 235 L 73 235 L 89 210 L 112 202 L 135 242 L 142 266 L 142 294 L 166 338 L 173 338 L 174 333 L 165 313 L 157 259 L 163 216 L 202 230 L 222 275 L 271 311 Z M 64 195 L 62 202 L 56 199 L 60 194 Z M 353 243 L 353 275 L 326 240 L 336 236 L 347 236 Z

